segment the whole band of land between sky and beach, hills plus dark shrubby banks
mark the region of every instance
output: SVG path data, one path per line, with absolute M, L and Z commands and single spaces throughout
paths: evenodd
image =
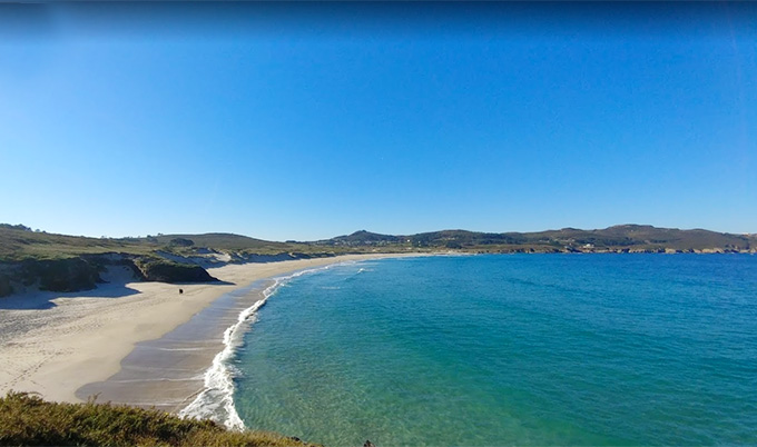
M 358 252 L 757 252 L 756 235 L 645 225 L 539 232 L 442 230 L 381 235 L 366 230 L 314 242 L 275 242 L 223 232 L 88 238 L 0 224 L 0 297 L 39 287 L 91 289 L 109 266 L 127 266 L 136 280 L 213 281 L 205 268 Z

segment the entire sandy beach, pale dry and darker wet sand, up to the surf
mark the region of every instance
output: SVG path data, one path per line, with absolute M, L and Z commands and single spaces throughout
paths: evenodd
M 81 401 L 99 393 L 98 401 L 175 411 L 201 389 L 204 371 L 223 349 L 223 331 L 240 309 L 259 299 L 263 279 L 399 256 L 227 265 L 208 269 L 219 284 L 180 286 L 126 282 L 124 272 L 111 271 L 110 284 L 86 292 L 2 298 L 0 394 L 12 389 Z

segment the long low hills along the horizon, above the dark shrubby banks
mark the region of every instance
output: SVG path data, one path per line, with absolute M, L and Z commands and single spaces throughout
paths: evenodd
M 476 232 L 442 230 L 416 235 L 382 235 L 366 230 L 312 242 L 276 242 L 247 236 L 214 232 L 157 235 L 139 238 L 89 238 L 32 231 L 29 227 L 0 224 L 0 262 L 50 260 L 81 255 L 122 254 L 166 256 L 176 259 L 224 256 L 229 261 L 248 258 L 334 256 L 371 251 L 464 250 L 483 252 L 556 251 L 755 251 L 757 235 L 733 235 L 704 229 L 680 230 L 648 225 L 618 225 L 604 229 L 562 228 L 538 232 Z

